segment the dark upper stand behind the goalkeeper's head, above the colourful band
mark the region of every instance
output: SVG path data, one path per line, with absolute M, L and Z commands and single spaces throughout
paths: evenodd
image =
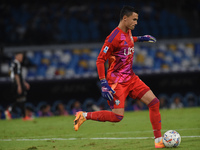
M 0 4 L 0 44 L 41 45 L 99 42 L 118 25 L 123 5 L 140 10 L 134 35 L 196 37 L 199 0 L 4 1 Z M 191 28 L 192 26 L 192 28 Z

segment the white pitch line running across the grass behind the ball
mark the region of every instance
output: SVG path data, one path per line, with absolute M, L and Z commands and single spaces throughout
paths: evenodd
M 181 136 L 181 138 L 200 138 L 200 135 L 196 136 Z M 154 139 L 153 137 L 96 137 L 96 138 L 44 138 L 44 139 L 0 139 L 2 142 L 7 141 L 70 141 L 70 140 L 146 140 L 146 139 Z

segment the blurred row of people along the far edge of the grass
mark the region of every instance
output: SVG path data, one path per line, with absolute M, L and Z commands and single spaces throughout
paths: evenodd
M 193 92 L 188 92 L 185 95 L 174 93 L 172 95 L 159 94 L 160 109 L 180 109 L 187 107 L 200 106 L 200 95 Z M 30 102 L 26 103 L 26 114 L 30 118 L 35 117 L 51 117 L 51 116 L 69 116 L 75 115 L 78 111 L 99 111 L 110 110 L 105 99 L 100 97 L 98 100 L 87 98 L 82 103 L 79 100 L 71 99 L 69 101 L 57 100 L 53 104 L 46 101 L 41 101 L 37 105 Z M 128 97 L 125 102 L 125 111 L 142 111 L 148 110 L 148 107 L 138 99 Z M 20 118 L 20 110 L 16 109 L 12 112 L 11 118 L 7 118 L 4 113 L 4 108 L 0 106 L 1 119 Z

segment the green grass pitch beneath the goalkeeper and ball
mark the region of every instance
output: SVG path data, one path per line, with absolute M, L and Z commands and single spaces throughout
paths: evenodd
M 162 134 L 169 129 L 177 130 L 182 141 L 176 149 L 199 150 L 199 115 L 200 107 L 161 110 Z M 120 123 L 86 121 L 77 132 L 73 130 L 74 116 L 36 118 L 26 122 L 2 120 L 0 150 L 154 149 L 148 111 L 126 112 L 124 116 Z M 94 139 L 106 137 L 124 139 Z M 133 139 L 138 137 L 147 138 Z

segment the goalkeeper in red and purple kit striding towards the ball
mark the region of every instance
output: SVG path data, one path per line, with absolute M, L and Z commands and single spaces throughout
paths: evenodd
M 102 87 L 102 96 L 108 100 L 112 111 L 83 112 L 76 114 L 74 128 L 77 131 L 86 120 L 120 122 L 124 117 L 126 97 L 139 99 L 149 108 L 150 121 L 155 137 L 155 148 L 165 147 L 161 135 L 160 102 L 150 88 L 133 72 L 134 42 L 156 42 L 150 35 L 133 37 L 131 30 L 138 21 L 138 11 L 124 6 L 120 12 L 120 23 L 106 38 L 97 58 L 97 71 Z M 105 77 L 105 62 L 109 68 Z

